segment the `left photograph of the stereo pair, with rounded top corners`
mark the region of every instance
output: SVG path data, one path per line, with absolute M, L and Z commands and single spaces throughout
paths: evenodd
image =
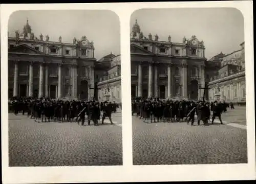
M 118 15 L 11 14 L 8 102 L 10 167 L 122 165 Z

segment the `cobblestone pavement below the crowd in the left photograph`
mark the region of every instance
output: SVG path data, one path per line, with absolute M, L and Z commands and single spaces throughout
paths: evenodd
M 119 115 L 113 114 L 113 121 Z M 35 123 L 9 114 L 9 166 L 108 165 L 122 165 L 121 127 L 108 121 L 99 126 Z

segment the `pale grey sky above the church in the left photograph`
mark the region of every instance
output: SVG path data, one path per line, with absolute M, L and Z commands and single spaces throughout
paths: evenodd
M 95 58 L 110 54 L 120 54 L 119 17 L 107 10 L 33 10 L 14 12 L 9 19 L 9 36 L 15 37 L 15 30 L 23 31 L 29 20 L 36 37 L 48 34 L 49 41 L 72 43 L 73 38 L 83 35 L 94 42 Z

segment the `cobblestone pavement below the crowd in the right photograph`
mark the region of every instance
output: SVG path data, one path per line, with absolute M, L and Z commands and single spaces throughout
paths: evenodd
M 218 123 L 209 126 L 197 123 L 190 126 L 186 122 L 143 123 L 133 117 L 133 163 L 247 163 L 246 130 Z

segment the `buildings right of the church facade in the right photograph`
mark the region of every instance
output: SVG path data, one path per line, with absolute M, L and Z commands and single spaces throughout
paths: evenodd
M 209 100 L 246 102 L 244 42 L 240 47 L 222 58 L 218 75 L 209 82 Z

